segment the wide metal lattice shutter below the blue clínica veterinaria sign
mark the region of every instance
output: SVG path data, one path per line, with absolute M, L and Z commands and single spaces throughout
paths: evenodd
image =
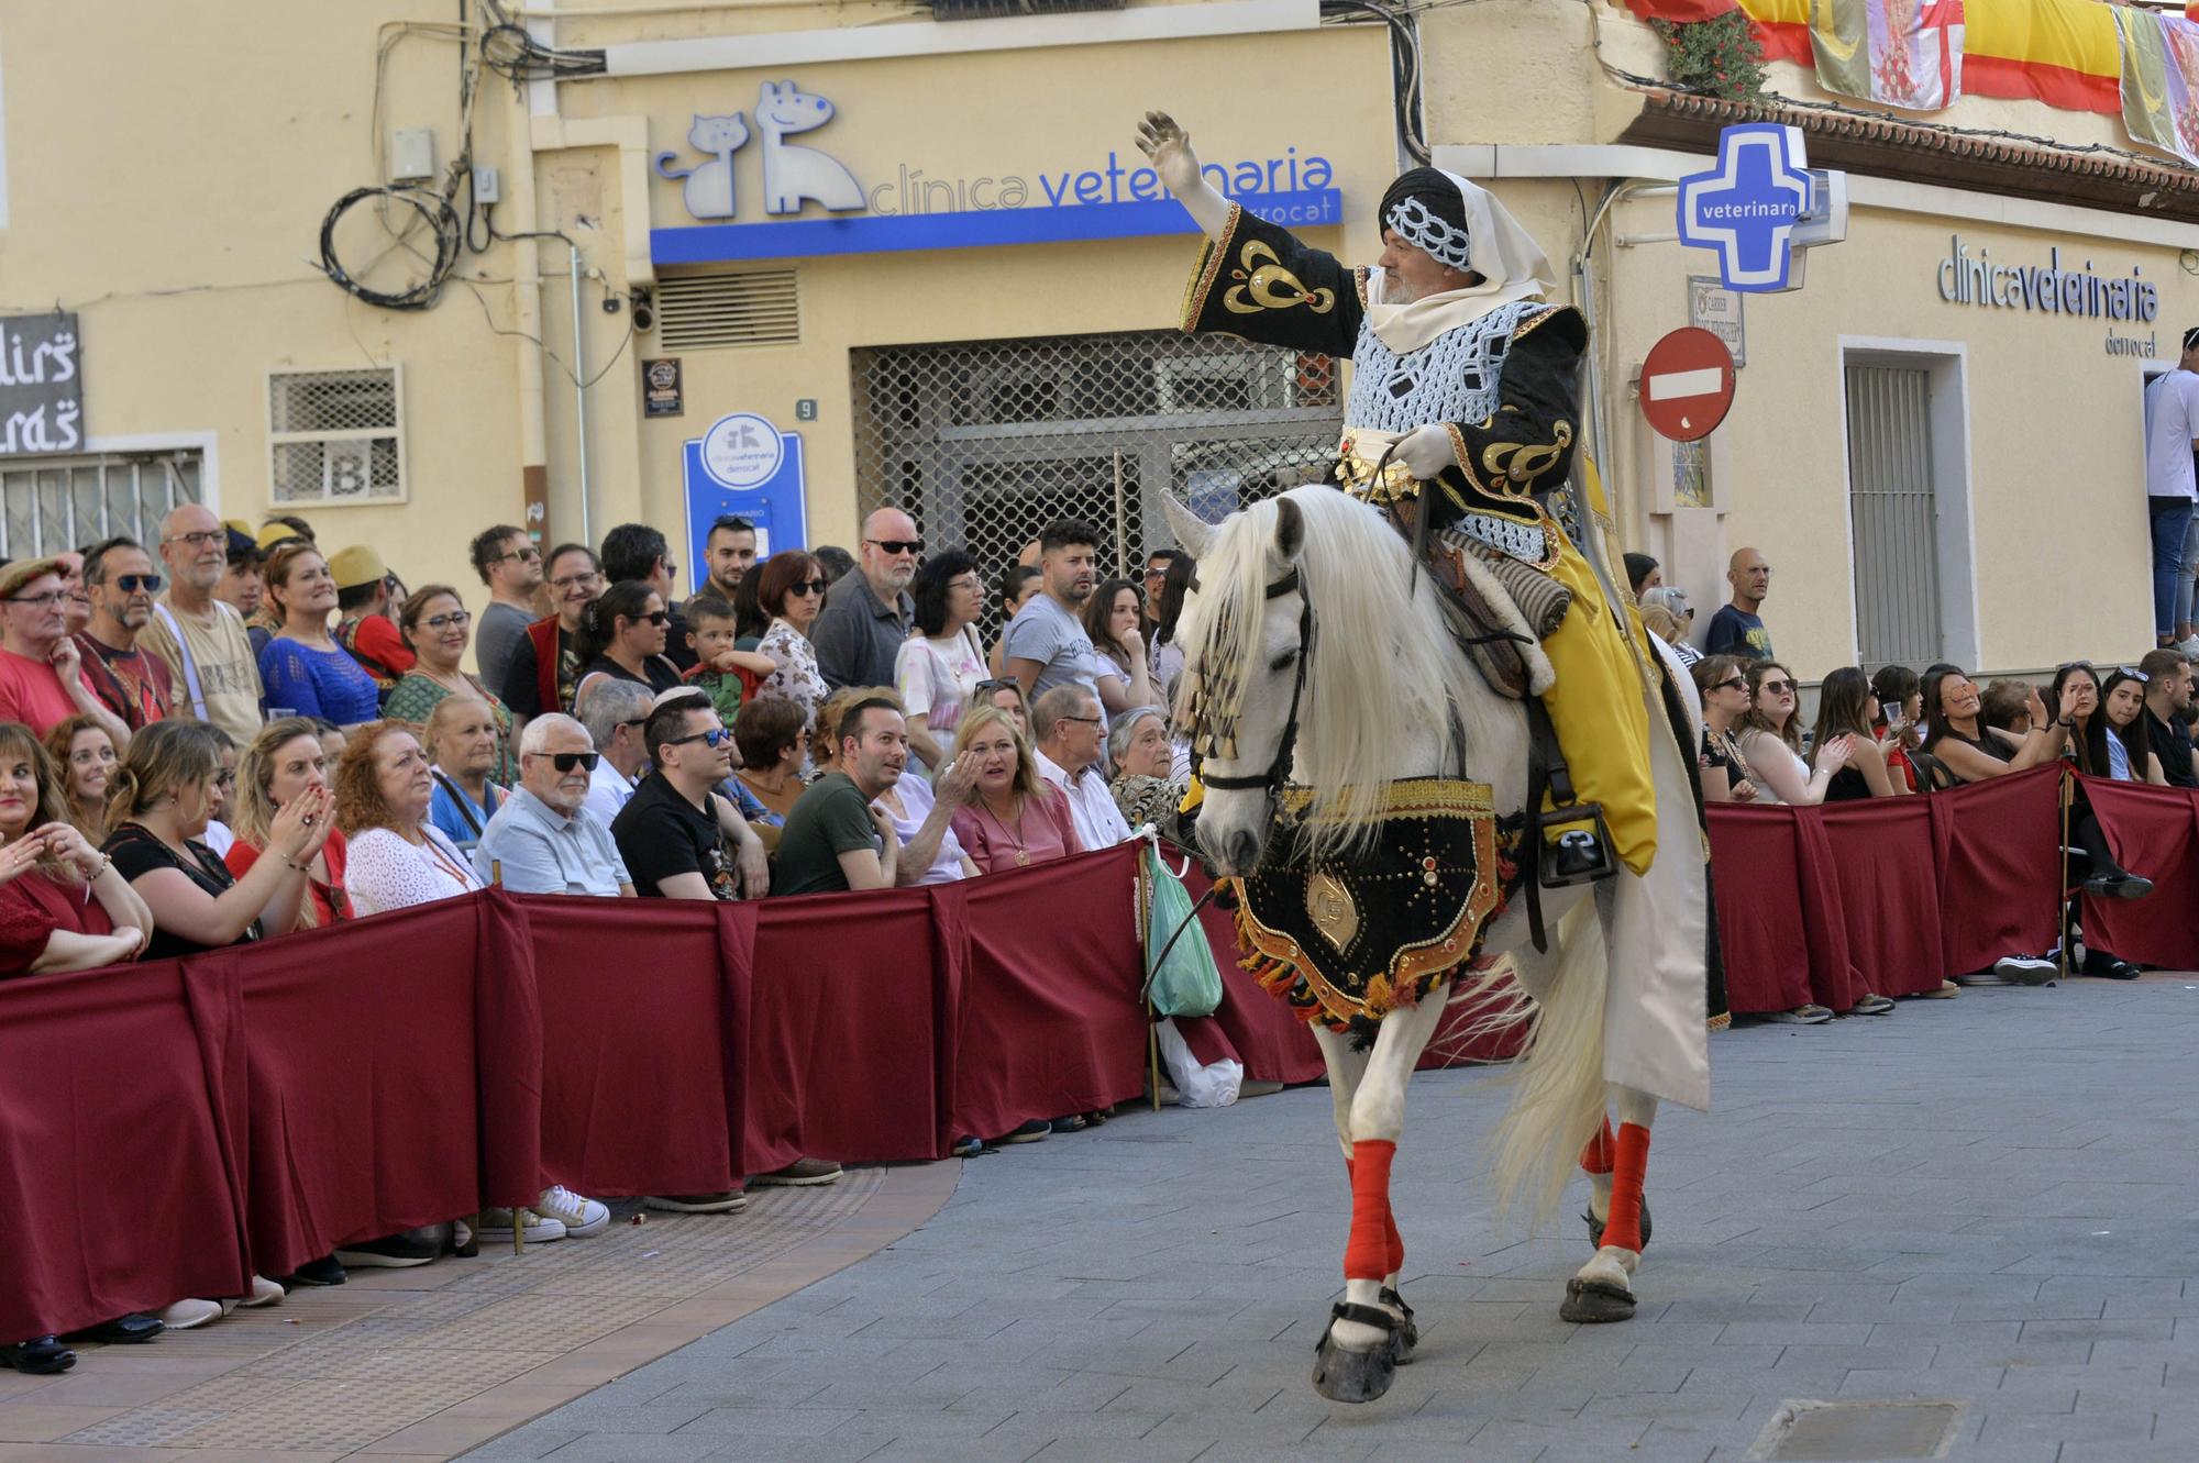
M 902 507 L 987 587 L 1056 518 L 1137 580 L 1161 494 L 1214 521 L 1322 481 L 1344 424 L 1328 356 L 1172 330 L 851 351 L 855 499 Z M 987 606 L 987 615 L 992 606 Z M 996 626 L 987 619 L 987 635 Z

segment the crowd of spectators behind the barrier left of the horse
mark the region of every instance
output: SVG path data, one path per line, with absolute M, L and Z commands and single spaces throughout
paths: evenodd
M 926 556 L 906 514 L 871 514 L 853 556 L 759 560 L 732 516 L 706 551 L 682 600 L 647 525 L 548 554 L 499 525 L 471 545 L 479 595 L 407 591 L 376 549 L 323 549 L 301 518 L 255 532 L 187 503 L 152 545 L 0 565 L 0 975 L 277 940 L 490 883 L 719 901 L 979 879 L 1121 841 L 1183 800 L 1148 615 L 1172 556 L 1146 589 L 1095 593 L 1097 534 L 1058 523 L 998 582 L 987 648 L 985 571 Z M 1086 1120 L 1104 1114 L 994 1140 Z M 745 1184 L 838 1177 L 803 1158 Z M 732 1213 L 745 1184 L 644 1204 Z M 550 1186 L 88 1336 L 152 1340 L 347 1267 L 607 1221 Z M 70 1360 L 57 1338 L 0 1347 L 29 1371 Z

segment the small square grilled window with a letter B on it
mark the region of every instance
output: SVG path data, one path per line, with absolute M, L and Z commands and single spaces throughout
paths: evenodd
M 268 373 L 273 503 L 402 503 L 398 367 Z

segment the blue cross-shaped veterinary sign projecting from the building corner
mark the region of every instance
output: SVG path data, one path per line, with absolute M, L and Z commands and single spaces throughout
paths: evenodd
M 1726 127 L 1717 167 L 1680 178 L 1680 242 L 1715 248 L 1728 290 L 1786 290 L 1794 226 L 1810 206 L 1805 167 L 1799 127 Z

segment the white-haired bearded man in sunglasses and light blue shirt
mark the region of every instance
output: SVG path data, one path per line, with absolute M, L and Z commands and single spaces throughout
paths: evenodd
M 473 863 L 515 894 L 633 896 L 611 830 L 587 806 L 598 753 L 587 727 L 550 712 L 519 736 L 519 786 L 482 828 Z

